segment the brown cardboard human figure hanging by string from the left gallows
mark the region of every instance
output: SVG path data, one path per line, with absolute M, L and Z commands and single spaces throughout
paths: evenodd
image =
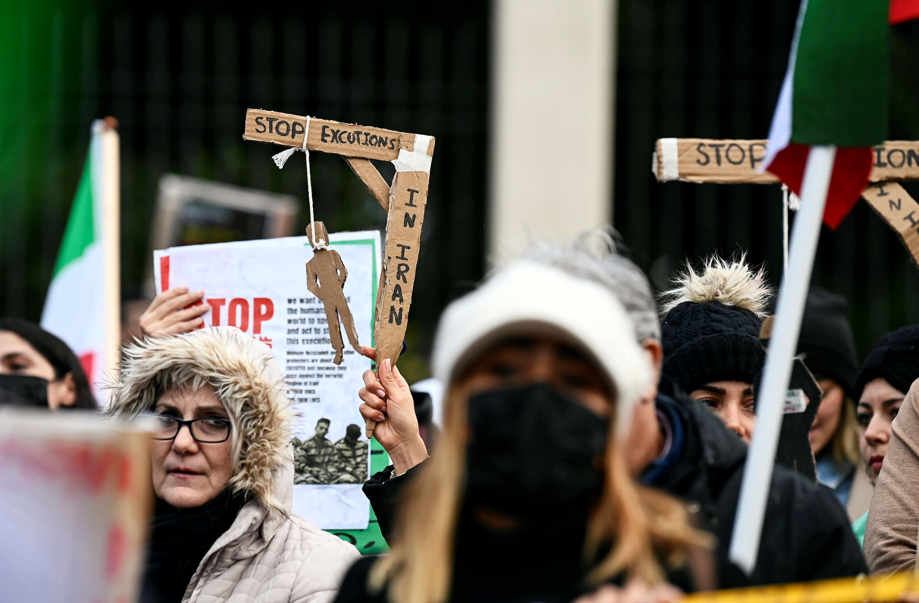
M 315 240 L 313 240 L 315 235 Z M 335 348 L 335 364 L 341 364 L 345 353 L 345 342 L 338 326 L 338 320 L 345 325 L 348 343 L 360 354 L 360 345 L 357 343 L 357 329 L 354 326 L 354 317 L 347 307 L 345 299 L 345 280 L 347 269 L 341 256 L 335 249 L 327 249 L 329 233 L 325 230 L 323 222 L 312 222 L 306 227 L 306 236 L 312 245 L 312 259 L 306 263 L 306 286 L 310 292 L 323 302 L 325 308 L 326 324 L 329 327 L 329 338 Z M 317 247 L 317 245 L 319 245 Z

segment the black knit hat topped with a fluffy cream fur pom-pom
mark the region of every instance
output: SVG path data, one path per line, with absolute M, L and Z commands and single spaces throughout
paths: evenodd
M 700 272 L 688 263 L 661 297 L 662 372 L 686 392 L 711 381 L 752 383 L 766 353 L 759 329 L 772 288 L 762 268 L 710 256 Z

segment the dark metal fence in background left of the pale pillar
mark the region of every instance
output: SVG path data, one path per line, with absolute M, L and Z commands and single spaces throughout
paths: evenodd
M 267 108 L 437 137 L 408 335 L 410 347 L 427 346 L 452 284 L 479 279 L 484 264 L 488 5 L 254 8 L 60 6 L 9 26 L 17 94 L 0 107 L 9 134 L 0 151 L 0 315 L 40 316 L 92 119 L 120 122 L 127 300 L 142 296 L 152 263 L 165 172 L 305 200 L 302 161 L 281 172 L 271 161 L 278 149 L 242 140 L 245 109 Z M 392 175 L 391 165 L 380 170 Z M 313 154 L 312 176 L 316 217 L 330 231 L 385 227 L 340 157 Z M 298 232 L 308 221 L 304 212 Z M 420 362 L 408 369 L 424 371 Z

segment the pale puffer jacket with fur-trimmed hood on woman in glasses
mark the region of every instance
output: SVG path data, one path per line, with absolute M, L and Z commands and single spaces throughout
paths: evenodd
M 289 403 L 265 344 L 235 327 L 145 339 L 122 350 L 110 415 L 151 410 L 163 370 L 182 367 L 216 382 L 243 436 L 230 484 L 254 499 L 204 556 L 183 603 L 324 603 L 360 554 L 299 516 L 293 504 Z

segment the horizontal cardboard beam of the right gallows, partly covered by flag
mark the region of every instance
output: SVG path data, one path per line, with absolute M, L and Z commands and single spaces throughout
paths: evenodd
M 778 178 L 756 170 L 766 158 L 767 140 L 664 138 L 654 144 L 652 171 L 659 182 L 771 184 Z M 868 179 L 919 179 L 919 142 L 888 141 L 872 148 L 874 166 Z

